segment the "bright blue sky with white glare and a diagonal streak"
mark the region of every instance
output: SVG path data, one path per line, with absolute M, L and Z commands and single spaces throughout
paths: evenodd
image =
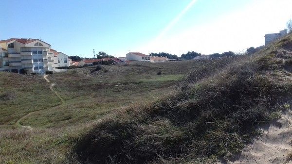
M 13 3 L 13 4 L 12 4 Z M 42 38 L 93 57 L 128 51 L 211 54 L 264 44 L 292 16 L 292 0 L 1 0 L 0 40 Z

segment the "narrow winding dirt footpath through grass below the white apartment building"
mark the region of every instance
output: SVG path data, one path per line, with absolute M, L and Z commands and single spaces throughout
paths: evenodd
M 44 75 L 44 79 L 46 80 L 46 82 L 51 83 L 51 82 L 49 81 L 49 79 L 47 78 L 48 76 L 49 76 L 49 75 Z M 56 97 L 58 97 L 58 98 L 60 99 L 61 104 L 65 103 L 65 100 L 64 100 L 64 99 L 63 99 L 63 98 L 62 98 L 62 97 L 61 97 L 61 96 L 60 96 L 60 95 L 54 90 L 54 85 L 55 85 L 55 83 L 51 83 L 51 85 L 50 85 L 50 90 L 53 91 L 53 92 L 55 93 Z M 59 106 L 59 105 L 61 105 L 61 104 L 58 104 L 58 105 L 56 105 L 56 106 Z M 56 106 L 52 106 L 52 107 L 56 107 Z M 52 108 L 52 107 L 48 107 L 48 108 Z M 48 108 L 45 108 L 45 109 L 48 109 Z M 21 125 L 21 124 L 20 124 L 20 121 L 23 120 L 24 118 L 28 117 L 29 115 L 35 113 L 35 112 L 38 112 L 38 111 L 41 111 L 41 110 L 45 110 L 45 109 L 40 109 L 40 110 L 37 110 L 37 111 L 30 112 L 30 113 L 28 113 L 28 114 L 26 114 L 26 115 L 23 115 L 22 117 L 20 117 L 20 118 L 16 121 L 15 125 L 20 126 L 20 127 L 22 127 L 22 128 L 27 128 L 27 129 L 33 130 L 33 128 L 30 127 L 30 126 Z

